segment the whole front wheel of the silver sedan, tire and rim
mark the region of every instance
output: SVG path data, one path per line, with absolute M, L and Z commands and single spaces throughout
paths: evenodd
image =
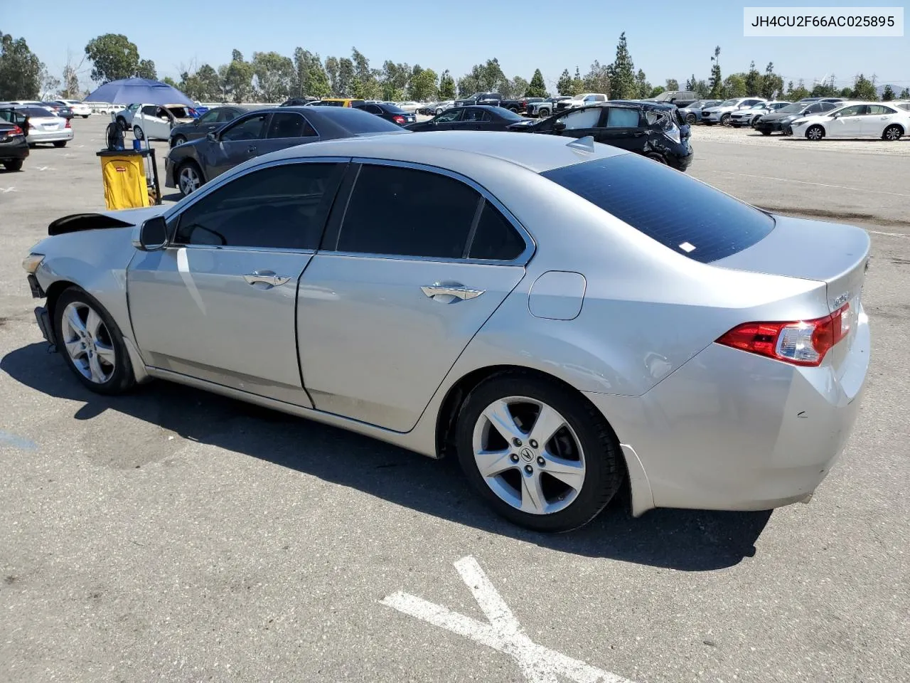
M 54 334 L 66 364 L 93 392 L 122 393 L 136 382 L 123 333 L 94 297 L 71 287 L 57 298 Z

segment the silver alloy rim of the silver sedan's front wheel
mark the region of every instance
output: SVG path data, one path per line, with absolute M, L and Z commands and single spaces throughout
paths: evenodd
M 63 345 L 76 370 L 89 382 L 104 384 L 116 370 L 110 331 L 91 306 L 73 301 L 63 311 Z

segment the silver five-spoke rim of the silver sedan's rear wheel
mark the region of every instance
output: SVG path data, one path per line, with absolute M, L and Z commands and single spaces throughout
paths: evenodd
M 521 512 L 559 512 L 584 484 L 578 435 L 560 413 L 536 399 L 510 396 L 490 403 L 474 425 L 472 445 L 483 481 Z

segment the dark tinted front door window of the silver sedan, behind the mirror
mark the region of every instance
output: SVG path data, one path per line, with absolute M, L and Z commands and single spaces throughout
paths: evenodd
M 316 249 L 340 166 L 285 164 L 232 180 L 183 212 L 174 242 Z

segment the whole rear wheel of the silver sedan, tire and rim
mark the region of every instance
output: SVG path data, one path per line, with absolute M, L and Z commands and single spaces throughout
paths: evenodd
M 480 496 L 535 531 L 587 524 L 622 485 L 619 443 L 602 414 L 571 388 L 525 372 L 480 382 L 461 405 L 455 438 Z

